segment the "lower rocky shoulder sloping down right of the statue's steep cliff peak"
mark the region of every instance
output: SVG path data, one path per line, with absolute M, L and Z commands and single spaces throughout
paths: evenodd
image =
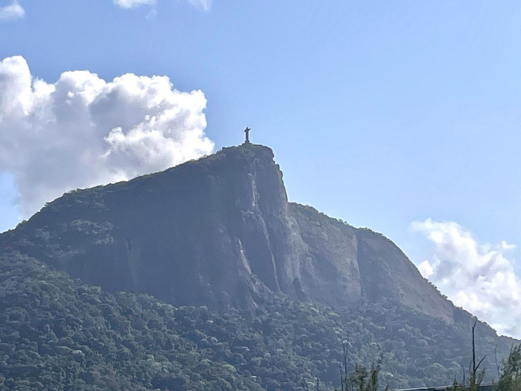
M 420 275 L 389 239 L 370 229 L 354 228 L 309 206 L 290 203 L 290 211 L 313 263 L 322 271 L 317 278 L 321 291 L 328 292 L 329 297 L 339 293 L 337 276 L 356 276 L 364 301 L 391 299 L 453 322 L 453 304 Z M 318 295 L 314 299 L 331 302 Z

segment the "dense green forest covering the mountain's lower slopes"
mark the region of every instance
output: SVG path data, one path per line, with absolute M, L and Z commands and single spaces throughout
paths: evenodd
M 381 384 L 450 384 L 468 364 L 470 316 L 452 325 L 392 302 L 332 310 L 272 295 L 254 311 L 176 308 L 84 285 L 19 253 L 0 255 L 0 389 L 301 389 L 339 384 L 381 357 Z M 494 375 L 498 338 L 478 324 Z M 500 358 L 508 343 L 498 346 Z M 490 354 L 491 353 L 491 354 Z

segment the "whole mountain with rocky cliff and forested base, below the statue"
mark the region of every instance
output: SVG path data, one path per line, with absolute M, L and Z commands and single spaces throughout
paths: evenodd
M 389 239 L 288 202 L 262 145 L 64 194 L 0 235 L 0 272 L 5 389 L 331 387 L 345 341 L 397 387 L 468 364 L 472 315 Z M 514 340 L 477 332 L 490 376 Z

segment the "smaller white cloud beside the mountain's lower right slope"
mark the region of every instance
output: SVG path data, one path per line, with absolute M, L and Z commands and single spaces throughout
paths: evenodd
M 420 273 L 500 334 L 521 337 L 521 279 L 505 255 L 515 245 L 480 244 L 454 222 L 427 219 L 412 228 L 435 245 L 432 259 L 418 265 Z

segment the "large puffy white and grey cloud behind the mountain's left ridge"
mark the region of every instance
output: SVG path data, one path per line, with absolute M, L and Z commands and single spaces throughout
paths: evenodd
M 23 57 L 0 62 L 0 172 L 28 216 L 64 192 L 127 180 L 212 152 L 206 99 L 166 76 L 105 81 L 68 71 L 33 78 Z

